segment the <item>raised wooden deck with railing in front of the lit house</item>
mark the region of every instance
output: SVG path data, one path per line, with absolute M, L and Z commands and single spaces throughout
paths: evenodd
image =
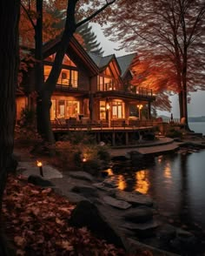
M 103 122 L 100 124 L 67 123 L 64 125 L 53 124 L 56 139 L 69 132 L 88 132 L 96 138 L 96 142 L 103 141 L 106 145 L 135 145 L 148 134 L 153 133 L 156 123 L 151 120 L 136 122 Z

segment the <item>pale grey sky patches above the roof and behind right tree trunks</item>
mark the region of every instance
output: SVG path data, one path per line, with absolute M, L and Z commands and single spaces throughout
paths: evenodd
M 115 42 L 109 41 L 108 37 L 104 37 L 102 28 L 99 24 L 92 24 L 93 31 L 97 36 L 97 41 L 101 43 L 102 50 L 104 51 L 104 56 L 115 53 L 116 57 L 129 54 L 126 51 L 116 51 L 119 46 Z M 205 83 L 205 82 L 204 82 Z M 205 116 L 205 91 L 196 91 L 190 94 L 191 100 L 188 104 L 188 117 L 201 117 Z M 172 101 L 172 110 L 173 118 L 179 118 L 179 102 L 178 98 L 175 95 L 170 98 Z M 158 115 L 170 116 L 171 112 L 167 111 L 158 111 Z

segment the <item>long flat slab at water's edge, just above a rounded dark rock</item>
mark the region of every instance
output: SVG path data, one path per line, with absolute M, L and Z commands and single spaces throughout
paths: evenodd
M 116 192 L 116 199 L 129 202 L 132 205 L 153 205 L 153 200 L 149 196 L 137 192 Z

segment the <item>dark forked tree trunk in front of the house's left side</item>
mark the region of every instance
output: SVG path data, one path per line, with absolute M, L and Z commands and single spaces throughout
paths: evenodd
M 61 40 L 58 44 L 50 76 L 45 82 L 43 81 L 43 0 L 36 1 L 36 23 L 34 23 L 32 17 L 30 17 L 30 11 L 23 6 L 23 10 L 25 10 L 28 17 L 30 17 L 30 22 L 35 30 L 37 130 L 43 136 L 44 140 L 51 144 L 54 143 L 54 136 L 50 124 L 50 98 L 53 91 L 56 89 L 56 82 L 62 69 L 63 57 L 67 51 L 69 40 L 73 37 L 78 27 L 89 22 L 89 20 L 96 17 L 99 13 L 109 7 L 110 4 L 115 2 L 116 0 L 105 0 L 103 3 L 85 0 L 84 2 L 80 0 L 68 1 L 65 26 L 61 35 Z M 57 3 L 57 1 L 55 3 Z M 61 4 L 62 1 L 59 1 L 58 3 Z M 86 3 L 87 5 L 83 6 L 83 3 Z M 76 10 L 78 10 L 77 18 Z M 83 17 L 83 13 L 86 13 L 87 17 Z M 80 19 L 80 17 L 83 18 Z M 76 23 L 76 20 L 79 20 L 79 22 Z

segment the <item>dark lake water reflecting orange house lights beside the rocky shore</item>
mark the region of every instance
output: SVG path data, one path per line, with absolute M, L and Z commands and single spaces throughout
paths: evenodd
M 165 218 L 205 234 L 205 151 L 163 155 L 150 163 L 141 171 L 115 170 L 119 189 L 150 195 Z

